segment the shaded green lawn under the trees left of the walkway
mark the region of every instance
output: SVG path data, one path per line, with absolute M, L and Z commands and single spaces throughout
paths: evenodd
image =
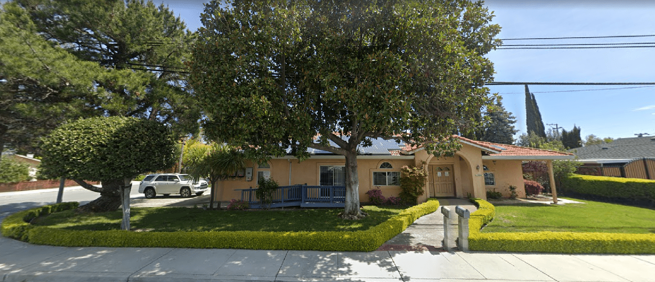
M 130 210 L 133 229 L 174 231 L 358 231 L 397 215 L 406 207 L 366 206 L 362 220 L 343 220 L 343 209 L 286 209 L 270 211 L 204 211 L 188 207 L 142 207 Z M 122 213 L 62 211 L 33 220 L 33 224 L 67 230 L 118 230 Z

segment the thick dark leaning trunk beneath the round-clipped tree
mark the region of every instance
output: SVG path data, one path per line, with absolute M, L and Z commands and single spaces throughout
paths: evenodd
M 79 179 L 74 179 L 79 185 L 83 186 L 93 192 L 100 192 L 100 198 L 81 205 L 77 211 L 84 213 L 104 213 L 107 211 L 117 211 L 121 207 L 121 185 L 122 179 L 113 179 L 111 181 L 103 181 L 102 188 L 84 183 Z M 83 185 L 84 184 L 84 185 Z

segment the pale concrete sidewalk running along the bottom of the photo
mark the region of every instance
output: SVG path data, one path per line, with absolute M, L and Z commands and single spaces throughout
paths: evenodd
M 654 255 L 52 247 L 0 238 L 0 281 L 655 281 Z

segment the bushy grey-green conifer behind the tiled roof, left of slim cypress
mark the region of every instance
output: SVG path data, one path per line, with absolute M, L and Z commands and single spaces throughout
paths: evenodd
M 482 141 L 514 143 L 514 133 L 518 130 L 515 130 L 512 124 L 516 123 L 516 118 L 502 106 L 502 97 L 497 97 L 495 106 L 487 109 L 487 118 L 489 121 L 485 125 Z

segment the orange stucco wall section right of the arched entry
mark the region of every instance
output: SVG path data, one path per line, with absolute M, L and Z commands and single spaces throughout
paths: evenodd
M 503 197 L 510 196 L 510 185 L 516 186 L 516 192 L 519 198 L 525 198 L 525 188 L 523 188 L 523 170 L 521 169 L 520 160 L 484 160 L 483 164 L 489 168 L 488 171 L 494 174 L 495 185 L 485 185 L 489 191 L 501 192 Z M 484 179 L 483 179 L 484 183 Z

